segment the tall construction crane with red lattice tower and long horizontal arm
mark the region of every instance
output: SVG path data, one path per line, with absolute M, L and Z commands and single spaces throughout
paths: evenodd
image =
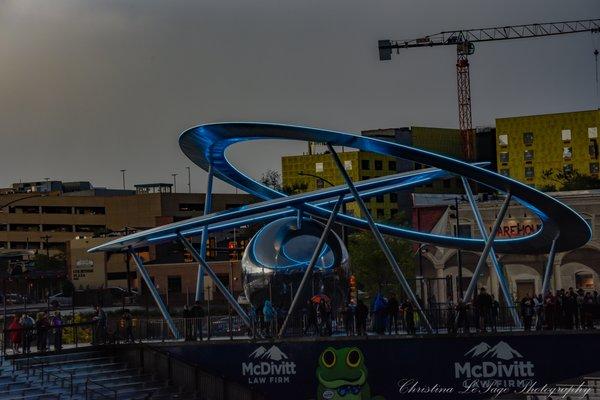
M 540 24 L 498 26 L 483 29 L 463 29 L 440 32 L 411 40 L 380 40 L 379 59 L 392 59 L 392 52 L 413 47 L 456 46 L 456 82 L 458 90 L 458 125 L 462 152 L 466 160 L 474 159 L 474 133 L 471 116 L 471 83 L 469 56 L 475 52 L 474 43 L 497 40 L 526 39 L 600 31 L 600 19 L 547 22 Z

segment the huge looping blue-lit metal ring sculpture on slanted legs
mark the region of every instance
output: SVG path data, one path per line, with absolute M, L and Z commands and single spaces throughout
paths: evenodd
M 326 143 L 346 184 L 310 193 L 286 196 L 251 179 L 229 162 L 225 156 L 225 150 L 231 144 L 258 139 L 286 139 Z M 181 134 L 179 144 L 188 158 L 204 170 L 210 171 L 211 177 L 214 175 L 243 191 L 262 198 L 264 201 L 235 210 L 207 214 L 186 221 L 149 229 L 110 241 L 90 251 L 134 251 L 136 247 L 172 240 L 182 240 L 186 246 L 191 247 L 186 238 L 206 235 L 209 232 L 246 225 L 252 222 L 268 222 L 293 216 L 301 212 L 305 215 L 328 219 L 328 224 L 325 226 L 323 236 L 321 237 L 322 240 L 317 243 L 315 253 L 307 264 L 304 274 L 305 278 L 312 271 L 312 268 L 315 267 L 317 258 L 323 251 L 323 246 L 326 245 L 325 237 L 329 233 L 333 222 L 360 229 L 371 229 L 407 295 L 416 302 L 414 294 L 406 283 L 400 267 L 391 256 L 391 252 L 387 248 L 385 241 L 383 241 L 382 234 L 443 247 L 480 251 L 482 254 L 478 263 L 479 269 L 483 267 L 488 256 L 493 254 L 494 251 L 520 254 L 537 254 L 548 252 L 550 249 L 552 249 L 552 253 L 556 251 L 568 251 L 583 246 L 591 238 L 590 227 L 574 210 L 530 186 L 488 171 L 481 164 L 469 164 L 443 155 L 388 141 L 299 126 L 264 123 L 219 123 L 200 125 L 188 129 Z M 350 147 L 411 160 L 423 165 L 429 165 L 431 168 L 353 183 L 348 177 L 333 146 Z M 362 201 L 363 197 L 421 186 L 432 180 L 450 176 L 468 178 L 496 189 L 499 192 L 506 193 L 503 207 L 494 224 L 495 227 L 499 226 L 502 221 L 510 201 L 515 200 L 537 215 L 541 221 L 541 229 L 535 234 L 526 237 L 496 240 L 495 229 L 487 233 L 483 230 L 482 224 L 479 224 L 479 211 L 470 188 L 467 189 L 468 183 L 466 179 L 463 179 L 465 191 L 472 207 L 474 207 L 474 214 L 479 217 L 478 224 L 481 225 L 481 238 L 449 237 L 375 223 Z M 212 179 L 209 179 L 209 184 L 211 183 Z M 361 208 L 364 219 L 340 214 L 339 206 L 346 201 L 356 201 L 359 208 Z M 332 206 L 333 209 L 331 209 Z M 208 271 L 210 268 L 208 268 L 208 265 L 204 261 L 204 254 L 196 252 L 193 255 L 210 274 L 211 271 Z M 143 265 L 138 263 L 138 267 L 140 266 L 143 268 Z M 510 305 L 512 304 L 512 299 L 509 296 L 508 284 L 502 274 L 501 268 L 496 268 L 496 273 L 498 274 L 505 300 Z M 203 276 L 203 272 L 199 273 L 199 280 L 203 279 Z M 465 298 L 468 298 L 467 296 L 472 293 L 472 289 L 476 285 L 476 280 L 477 276 L 474 275 Z M 299 288 L 299 292 L 302 287 Z M 546 282 L 544 287 L 547 287 Z M 222 290 L 226 290 L 226 288 L 222 288 Z M 416 306 L 421 311 L 418 304 Z M 236 308 L 240 315 L 246 317 L 243 310 L 239 308 L 239 305 Z M 294 303 L 288 316 L 291 314 L 293 308 Z M 427 322 L 424 313 L 422 313 L 422 317 Z M 516 313 L 513 317 L 515 318 L 515 322 L 518 323 L 519 320 Z

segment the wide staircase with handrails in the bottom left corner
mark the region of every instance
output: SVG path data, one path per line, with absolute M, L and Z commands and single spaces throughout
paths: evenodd
M 118 355 L 79 351 L 3 360 L 0 399 L 193 399 Z

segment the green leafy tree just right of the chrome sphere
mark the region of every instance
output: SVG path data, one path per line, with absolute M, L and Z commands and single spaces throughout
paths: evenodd
M 412 243 L 395 238 L 385 237 L 398 265 L 407 279 L 415 276 Z M 371 231 L 358 231 L 349 236 L 348 253 L 352 265 L 352 273 L 356 276 L 358 287 L 374 295 L 378 290 L 385 293 L 403 293 L 398 278 Z

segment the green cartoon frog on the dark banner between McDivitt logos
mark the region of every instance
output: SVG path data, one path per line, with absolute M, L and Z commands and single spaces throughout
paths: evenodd
M 317 400 L 384 400 L 371 397 L 362 351 L 356 347 L 326 348 L 317 367 Z

